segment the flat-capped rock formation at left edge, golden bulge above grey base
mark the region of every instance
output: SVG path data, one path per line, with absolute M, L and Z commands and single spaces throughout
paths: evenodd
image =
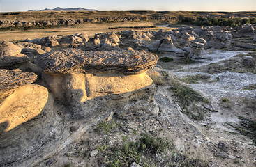
M 31 84 L 36 78 L 36 74 L 19 69 L 0 70 L 1 166 L 26 158 L 49 140 L 42 134 L 45 126 L 36 121 L 45 107 L 48 91 L 43 86 Z M 31 124 L 32 120 L 35 121 Z

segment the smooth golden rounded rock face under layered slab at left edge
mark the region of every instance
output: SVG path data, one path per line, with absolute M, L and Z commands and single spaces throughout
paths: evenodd
M 0 124 L 6 122 L 5 132 L 38 116 L 48 98 L 47 88 L 40 85 L 25 85 L 15 88 L 0 104 Z M 0 132 L 1 133 L 1 132 Z

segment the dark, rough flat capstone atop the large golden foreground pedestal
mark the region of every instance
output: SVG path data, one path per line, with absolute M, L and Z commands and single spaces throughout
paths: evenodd
M 82 51 L 63 49 L 36 57 L 42 72 L 114 72 L 141 74 L 153 68 L 158 56 L 146 51 Z

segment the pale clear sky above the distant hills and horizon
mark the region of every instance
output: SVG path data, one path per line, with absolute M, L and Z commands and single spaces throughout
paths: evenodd
M 155 11 L 256 11 L 256 0 L 0 0 L 1 12 L 45 8 Z

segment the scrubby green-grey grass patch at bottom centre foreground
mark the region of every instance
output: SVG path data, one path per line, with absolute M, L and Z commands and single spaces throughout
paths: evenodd
M 167 139 L 146 133 L 142 133 L 136 141 L 110 148 L 105 160 L 107 166 L 114 167 L 130 166 L 133 162 L 140 166 L 209 166 L 206 161 L 190 159 L 176 152 Z

